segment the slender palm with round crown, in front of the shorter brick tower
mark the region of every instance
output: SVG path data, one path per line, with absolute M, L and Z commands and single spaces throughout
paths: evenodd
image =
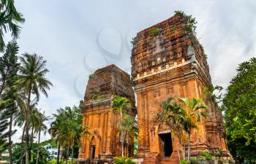
M 113 101 L 111 101 L 111 108 L 113 113 L 119 112 L 119 122 L 118 129 L 121 131 L 121 157 L 124 157 L 124 128 L 121 125 L 121 120 L 123 120 L 123 112 L 131 107 L 128 98 L 124 98 L 118 95 L 114 95 Z

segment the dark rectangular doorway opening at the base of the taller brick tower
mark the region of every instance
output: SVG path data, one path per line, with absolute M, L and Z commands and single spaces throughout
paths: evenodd
M 159 134 L 161 149 L 165 157 L 170 157 L 173 153 L 172 136 L 170 133 Z

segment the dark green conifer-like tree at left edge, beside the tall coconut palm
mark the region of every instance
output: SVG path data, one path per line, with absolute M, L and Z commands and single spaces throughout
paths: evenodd
M 12 134 L 15 130 L 12 130 L 12 121 L 15 112 L 18 111 L 18 105 L 21 105 L 20 96 L 18 94 L 18 87 L 16 85 L 17 72 L 18 72 L 18 44 L 14 40 L 7 44 L 7 50 L 0 58 L 0 74 L 1 74 L 1 87 L 0 98 L 9 103 L 4 106 L 4 112 L 2 117 L 5 117 L 9 121 L 8 130 L 8 143 L 10 163 L 12 163 Z

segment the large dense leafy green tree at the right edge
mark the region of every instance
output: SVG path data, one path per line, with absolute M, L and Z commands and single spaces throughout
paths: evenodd
M 222 101 L 227 146 L 241 162 L 256 161 L 256 58 L 239 64 Z

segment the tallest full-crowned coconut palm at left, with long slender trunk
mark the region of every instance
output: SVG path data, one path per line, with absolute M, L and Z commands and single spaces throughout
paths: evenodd
M 39 100 L 39 91 L 48 97 L 47 90 L 50 90 L 52 83 L 45 78 L 48 69 L 45 69 L 46 60 L 37 54 L 23 54 L 20 58 L 19 84 L 26 100 L 26 164 L 29 164 L 29 125 L 31 95 Z

